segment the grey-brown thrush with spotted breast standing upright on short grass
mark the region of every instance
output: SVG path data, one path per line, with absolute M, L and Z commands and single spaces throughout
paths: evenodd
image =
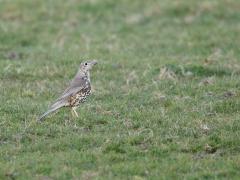
M 42 121 L 47 115 L 62 107 L 70 107 L 72 115 L 78 117 L 76 108 L 85 102 L 86 98 L 91 94 L 90 70 L 96 64 L 96 60 L 82 62 L 69 87 L 67 87 L 62 95 L 50 106 L 48 111 L 38 118 L 38 121 Z

